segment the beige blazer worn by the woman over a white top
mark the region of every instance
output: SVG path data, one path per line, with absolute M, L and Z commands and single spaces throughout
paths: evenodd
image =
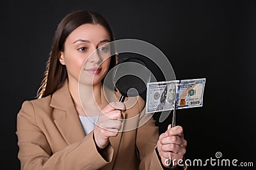
M 124 117 L 138 115 L 143 107 L 140 99 Z M 17 137 L 21 169 L 163 169 L 156 153 L 159 135 L 153 118 L 138 129 L 119 132 L 99 153 L 93 131 L 84 135 L 67 81 L 52 96 L 22 104 Z

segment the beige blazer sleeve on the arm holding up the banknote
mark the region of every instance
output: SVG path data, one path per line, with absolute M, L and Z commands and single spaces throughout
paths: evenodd
M 152 115 L 146 114 L 143 110 L 141 112 L 140 121 L 148 119 Z M 140 169 L 155 170 L 155 169 L 168 169 L 162 166 L 162 162 L 157 153 L 157 141 L 159 139 L 158 127 L 155 120 L 151 117 L 148 122 L 137 130 L 136 146 L 138 147 L 140 155 Z M 175 169 L 187 169 L 184 167 L 175 167 Z

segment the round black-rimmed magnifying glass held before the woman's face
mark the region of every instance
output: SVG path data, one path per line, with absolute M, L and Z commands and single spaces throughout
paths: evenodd
M 120 60 L 113 70 L 112 81 L 115 89 L 122 95 L 120 102 L 125 97 L 135 97 L 147 90 L 147 83 L 150 82 L 151 73 L 147 65 L 138 57 L 127 57 Z

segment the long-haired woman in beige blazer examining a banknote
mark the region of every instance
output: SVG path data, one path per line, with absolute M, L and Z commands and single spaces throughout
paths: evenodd
M 159 137 L 150 118 L 138 129 L 118 132 L 122 119 L 138 115 L 144 103 L 139 99 L 126 110 L 124 103 L 108 104 L 102 94 L 102 80 L 116 56 L 88 56 L 113 40 L 111 27 L 98 13 L 75 11 L 61 20 L 38 99 L 25 101 L 17 116 L 21 169 L 163 169 L 166 159 L 183 158 L 182 127 Z M 102 109 L 95 126 L 84 127 L 81 119 L 86 115 L 78 92 L 81 69 L 86 108 Z M 171 168 L 179 168 L 177 162 Z

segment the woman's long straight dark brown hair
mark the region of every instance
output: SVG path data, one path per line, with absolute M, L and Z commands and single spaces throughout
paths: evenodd
M 51 95 L 63 86 L 67 78 L 67 69 L 66 66 L 63 66 L 59 62 L 59 53 L 64 50 L 64 44 L 68 35 L 83 24 L 100 24 L 109 32 L 110 40 L 115 40 L 110 25 L 99 13 L 95 11 L 74 11 L 68 14 L 61 20 L 56 29 L 52 41 L 51 53 L 46 64 L 44 79 L 37 92 L 38 98 Z M 116 55 L 111 56 L 109 70 L 115 66 L 116 60 Z

